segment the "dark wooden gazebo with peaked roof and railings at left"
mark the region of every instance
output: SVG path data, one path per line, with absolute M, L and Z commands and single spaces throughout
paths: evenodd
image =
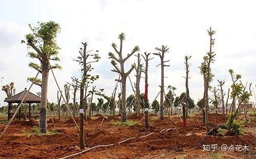
M 22 99 L 24 98 L 25 94 L 26 94 L 27 89 L 25 88 L 24 91 L 15 94 L 14 96 L 4 100 L 5 102 L 8 102 L 8 120 L 10 120 L 13 116 L 14 113 L 11 113 L 12 110 L 12 103 L 20 103 L 22 102 Z M 31 112 L 31 103 L 40 103 L 41 98 L 31 92 L 27 93 L 27 96 L 25 98 L 24 103 L 28 103 L 29 104 L 29 112 L 21 112 L 21 110 L 19 109 L 19 112 L 17 113 L 17 115 L 15 116 L 15 118 L 18 118 L 19 120 L 21 118 L 26 119 L 26 118 L 37 118 L 39 117 L 39 112 L 38 113 L 32 113 Z M 14 110 L 13 110 L 14 111 Z

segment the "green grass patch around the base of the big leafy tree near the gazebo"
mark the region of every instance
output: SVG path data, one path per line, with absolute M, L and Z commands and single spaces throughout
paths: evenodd
M 58 133 L 56 131 L 56 129 L 53 129 L 51 131 L 46 131 L 46 133 L 41 133 L 40 130 L 39 130 L 39 127 L 37 127 L 37 126 L 31 127 L 29 131 L 27 131 L 25 128 L 23 128 L 23 129 L 20 130 L 20 133 L 25 134 L 27 137 L 62 134 L 62 133 Z

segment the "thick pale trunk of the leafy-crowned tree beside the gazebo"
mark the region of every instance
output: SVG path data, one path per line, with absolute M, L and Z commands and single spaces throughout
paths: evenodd
M 46 133 L 46 104 L 48 93 L 48 77 L 49 77 L 49 63 L 42 62 L 42 84 L 41 84 L 41 101 L 39 114 L 39 128 L 41 133 Z

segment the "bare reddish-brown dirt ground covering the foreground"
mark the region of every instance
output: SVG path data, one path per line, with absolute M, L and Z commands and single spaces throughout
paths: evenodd
M 143 114 L 138 118 L 135 115 L 128 118 L 137 118 L 139 121 Z M 101 118 L 101 120 L 99 119 Z M 100 123 L 103 116 L 92 117 L 84 124 L 85 144 L 87 148 L 97 145 L 115 144 L 111 147 L 95 148 L 86 153 L 79 154 L 73 158 L 148 158 L 154 155 L 155 158 L 211 158 L 216 153 L 221 153 L 226 158 L 253 158 L 256 155 L 256 118 L 251 118 L 251 122 L 245 124 L 245 133 L 242 136 L 216 137 L 207 136 L 205 140 L 192 151 L 184 152 L 190 148 L 194 148 L 205 135 L 205 125 L 202 123 L 202 117 L 193 115 L 188 117 L 186 127 L 182 127 L 182 121 L 178 116 L 173 119 L 165 117 L 165 120 L 159 120 L 157 117 L 150 118 L 150 128 L 145 129 L 144 121 L 142 125 L 133 127 L 114 126 L 110 120 L 104 120 L 102 126 Z M 172 118 L 172 117 L 171 117 Z M 61 120 L 54 119 L 59 135 L 52 136 L 31 136 L 27 137 L 20 130 L 25 128 L 29 130 L 32 126 L 28 123 L 36 121 L 16 121 L 8 128 L 6 134 L 0 139 L 0 158 L 59 158 L 79 152 L 79 133 L 75 127 L 73 120 L 69 117 L 62 117 Z M 79 124 L 79 117 L 75 120 Z M 120 121 L 120 117 L 117 117 Z M 134 120 L 134 119 L 133 119 Z M 226 122 L 225 115 L 211 114 L 209 121 L 213 124 L 224 124 Z M 35 124 L 35 123 L 34 123 Z M 38 123 L 36 122 L 36 125 Z M 5 124 L 0 124 L 0 130 L 3 131 Z M 162 129 L 175 128 L 168 132 Z M 53 124 L 48 121 L 48 129 L 53 129 Z M 145 137 L 154 132 L 155 134 Z M 186 136 L 186 134 L 191 134 Z M 125 139 L 136 137 L 122 144 L 118 142 Z M 248 145 L 249 151 L 242 152 L 203 152 L 202 145 L 205 144 L 222 144 L 226 145 Z M 176 147 L 176 152 L 172 150 Z

